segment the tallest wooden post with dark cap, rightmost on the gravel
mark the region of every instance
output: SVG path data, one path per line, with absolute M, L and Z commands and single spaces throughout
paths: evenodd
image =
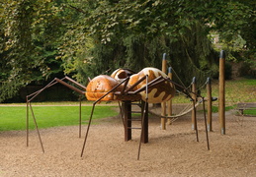
M 220 51 L 219 55 L 219 92 L 218 92 L 218 118 L 220 134 L 225 135 L 225 53 Z

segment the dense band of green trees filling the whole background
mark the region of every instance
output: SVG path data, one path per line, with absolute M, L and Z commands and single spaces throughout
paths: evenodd
M 64 75 L 86 85 L 117 68 L 161 68 L 163 53 L 185 84 L 216 78 L 221 49 L 255 77 L 255 7 L 254 0 L 2 0 L 0 102 Z

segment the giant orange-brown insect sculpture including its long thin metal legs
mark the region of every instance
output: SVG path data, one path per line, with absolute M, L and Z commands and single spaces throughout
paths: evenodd
M 163 70 L 166 68 L 163 67 Z M 168 74 L 169 75 L 169 74 Z M 74 91 L 84 94 L 88 100 L 94 100 L 87 131 L 86 131 L 86 136 L 84 139 L 84 144 L 83 148 L 81 151 L 81 156 L 83 155 L 84 148 L 86 145 L 87 137 L 89 134 L 90 130 L 90 125 L 94 113 L 94 108 L 97 103 L 103 100 L 107 101 L 122 101 L 124 103 L 124 113 L 125 118 L 127 117 L 127 122 L 124 123 L 125 125 L 125 131 L 126 131 L 126 136 L 127 140 L 130 137 L 130 132 L 128 132 L 128 112 L 130 111 L 130 107 L 128 106 L 128 102 L 132 101 L 143 101 L 143 106 L 142 106 L 142 116 L 141 116 L 141 134 L 140 134 L 140 141 L 139 141 L 139 148 L 138 148 L 138 155 L 137 159 L 139 159 L 139 153 L 140 153 L 140 147 L 141 143 L 147 143 L 147 134 L 145 129 L 147 129 L 147 109 L 148 109 L 148 103 L 162 103 L 162 107 L 166 107 L 163 102 L 169 101 L 168 102 L 168 107 L 171 107 L 171 98 L 175 94 L 175 89 L 180 89 L 181 92 L 186 94 L 193 102 L 193 128 L 196 131 L 197 135 L 197 141 L 198 139 L 198 129 L 197 129 L 197 119 L 196 119 L 196 106 L 200 103 L 203 102 L 204 105 L 204 117 L 205 117 L 205 125 L 206 125 L 206 135 L 207 135 L 207 143 L 208 143 L 208 149 L 210 149 L 209 145 L 209 138 L 208 138 L 208 128 L 209 130 L 212 130 L 212 123 L 209 122 L 209 126 L 207 126 L 207 119 L 206 119 L 206 109 L 205 109 L 205 97 L 199 95 L 196 93 L 194 90 L 189 90 L 184 88 L 181 85 L 178 85 L 174 83 L 171 79 L 162 71 L 156 69 L 156 68 L 145 68 L 135 74 L 131 70 L 128 69 L 118 69 L 116 70 L 111 76 L 107 75 L 100 75 L 93 80 L 90 81 L 87 87 L 82 86 L 81 84 L 75 82 L 74 80 L 64 77 L 63 79 L 57 79 L 55 78 L 52 80 L 47 86 L 45 86 L 43 89 L 40 89 L 30 95 L 27 96 L 27 146 L 29 146 L 29 108 L 32 111 L 32 116 L 34 118 L 34 122 L 36 125 L 36 129 L 39 135 L 39 139 L 41 142 L 41 146 L 43 148 L 43 142 L 41 140 L 40 132 L 38 129 L 36 117 L 33 112 L 33 108 L 31 105 L 31 101 L 39 95 L 44 89 L 47 89 L 57 83 L 62 84 L 63 86 L 73 89 Z M 66 82 L 71 82 L 74 84 L 76 87 L 73 87 Z M 208 97 L 208 100 L 212 101 L 212 94 L 209 94 L 210 97 Z M 200 97 L 200 99 L 198 99 Z M 198 101 L 197 101 L 198 100 Z M 210 103 L 211 103 L 210 101 Z M 212 106 L 212 105 L 211 105 Z M 171 112 L 168 112 L 168 116 L 166 116 L 166 110 L 162 110 L 162 126 L 165 125 L 165 120 L 166 118 L 170 117 L 178 117 L 184 114 L 180 115 L 174 115 L 172 116 Z M 184 111 L 184 113 L 188 113 L 191 110 Z M 212 119 L 212 118 L 211 118 Z M 81 100 L 80 100 L 80 114 L 79 114 L 79 137 L 81 137 Z M 123 118 L 124 120 L 124 118 Z M 43 149 L 44 152 L 44 149 Z

